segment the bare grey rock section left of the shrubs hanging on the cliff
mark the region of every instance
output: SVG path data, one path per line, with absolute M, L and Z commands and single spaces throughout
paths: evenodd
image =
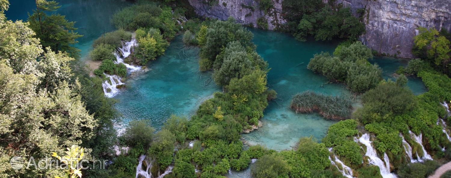
M 219 0 L 218 4 L 208 5 L 204 0 L 189 0 L 196 13 L 200 16 L 227 20 L 230 16 L 236 18 L 238 23 L 258 27 L 259 18 L 264 18 L 268 23 L 268 29 L 273 30 L 285 23 L 281 18 L 282 0 L 273 0 L 274 8 L 265 13 L 258 7 L 257 0 Z

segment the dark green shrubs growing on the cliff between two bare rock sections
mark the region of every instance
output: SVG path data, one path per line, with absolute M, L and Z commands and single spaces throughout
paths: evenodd
M 350 9 L 335 1 L 284 0 L 282 13 L 287 20 L 284 30 L 300 41 L 308 36 L 322 41 L 336 37 L 355 41 L 365 32 L 364 24 L 352 16 Z

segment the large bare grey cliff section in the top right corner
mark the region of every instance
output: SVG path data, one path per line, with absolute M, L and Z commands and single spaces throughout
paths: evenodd
M 337 0 L 355 14 L 364 8 L 366 34 L 361 41 L 373 50 L 413 58 L 417 27 L 451 30 L 451 0 Z

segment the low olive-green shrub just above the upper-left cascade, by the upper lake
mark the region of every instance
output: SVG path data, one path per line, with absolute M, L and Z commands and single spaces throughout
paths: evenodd
M 105 33 L 101 37 L 97 38 L 94 42 L 92 42 L 92 47 L 96 48 L 98 45 L 106 44 L 118 48 L 122 46 L 122 41 L 130 41 L 131 39 L 132 34 L 130 32 L 116 30 Z

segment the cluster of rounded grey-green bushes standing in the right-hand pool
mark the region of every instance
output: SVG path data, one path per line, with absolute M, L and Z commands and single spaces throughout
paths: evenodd
M 340 45 L 334 54 L 316 54 L 307 68 L 333 82 L 345 82 L 355 93 L 364 93 L 382 80 L 382 69 L 377 64 L 369 64 L 367 59 L 373 58 L 373 55 L 361 42 Z

